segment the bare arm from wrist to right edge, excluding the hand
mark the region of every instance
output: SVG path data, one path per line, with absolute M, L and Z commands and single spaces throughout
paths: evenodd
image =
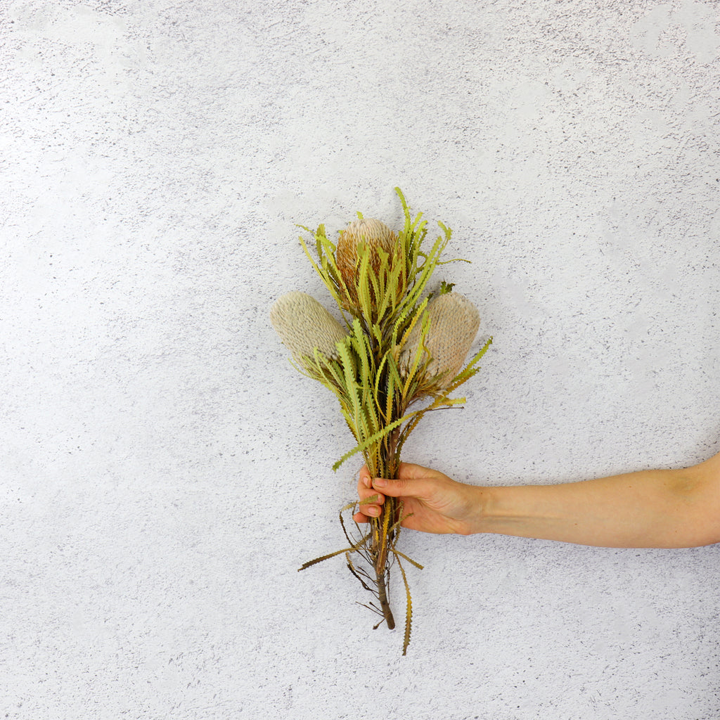
M 478 488 L 473 530 L 603 547 L 711 544 L 720 541 L 716 465 Z

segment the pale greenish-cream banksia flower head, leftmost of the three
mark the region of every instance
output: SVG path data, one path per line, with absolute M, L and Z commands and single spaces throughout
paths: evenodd
M 315 355 L 336 358 L 335 343 L 347 332 L 320 303 L 306 292 L 288 292 L 279 297 L 270 310 L 270 322 L 295 360 Z

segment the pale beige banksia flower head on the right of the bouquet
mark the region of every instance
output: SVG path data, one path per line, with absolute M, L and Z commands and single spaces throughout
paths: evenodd
M 435 377 L 442 373 L 441 387 L 446 387 L 464 365 L 477 329 L 480 328 L 480 312 L 467 297 L 456 292 L 433 297 L 428 302 L 426 312 L 430 316 L 426 346 L 431 356 L 427 375 Z M 418 320 L 400 354 L 400 368 L 403 372 L 408 372 L 415 361 L 415 355 L 420 349 L 421 333 L 422 321 Z

